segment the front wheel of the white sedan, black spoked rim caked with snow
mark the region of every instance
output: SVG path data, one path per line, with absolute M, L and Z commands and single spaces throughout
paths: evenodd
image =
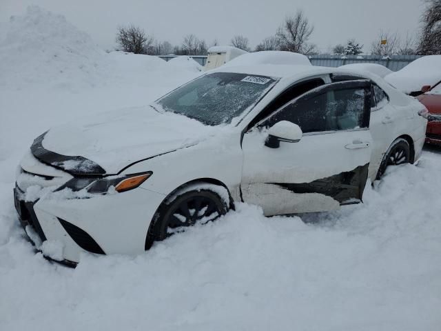
M 173 199 L 165 199 L 156 211 L 147 232 L 145 250 L 154 241 L 162 241 L 185 228 L 205 224 L 225 215 L 229 210 L 227 201 L 209 189 L 181 190 L 173 194 Z

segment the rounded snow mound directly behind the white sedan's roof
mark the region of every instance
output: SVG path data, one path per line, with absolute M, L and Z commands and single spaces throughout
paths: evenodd
M 311 66 L 309 59 L 303 55 L 293 52 L 283 52 L 280 50 L 264 50 L 262 52 L 252 52 L 240 55 L 224 64 L 224 66 L 255 66 L 258 64 L 295 64 Z

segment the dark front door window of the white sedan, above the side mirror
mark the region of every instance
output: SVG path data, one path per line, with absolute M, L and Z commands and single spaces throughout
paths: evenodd
M 364 88 L 329 90 L 290 103 L 264 125 L 285 120 L 296 123 L 304 133 L 365 128 L 365 98 Z

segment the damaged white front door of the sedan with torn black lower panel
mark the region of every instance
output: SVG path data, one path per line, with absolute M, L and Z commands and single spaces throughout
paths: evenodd
M 358 203 L 371 157 L 371 83 L 343 81 L 320 86 L 276 110 L 243 137 L 243 201 L 265 215 L 318 212 Z M 265 146 L 267 128 L 291 121 L 298 142 Z

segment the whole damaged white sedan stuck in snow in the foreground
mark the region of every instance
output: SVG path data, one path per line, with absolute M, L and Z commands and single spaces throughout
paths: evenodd
M 238 201 L 265 215 L 335 210 L 420 157 L 424 111 L 368 72 L 219 68 L 150 106 L 41 134 L 15 203 L 30 237 L 70 263 L 143 252 Z

